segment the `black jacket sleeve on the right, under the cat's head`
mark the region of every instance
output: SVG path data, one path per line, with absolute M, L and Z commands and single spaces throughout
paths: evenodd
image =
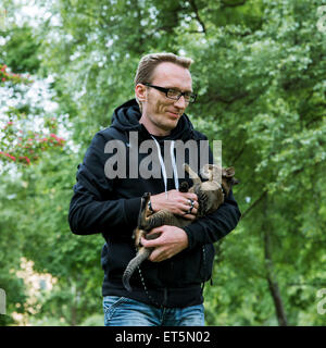
M 205 136 L 204 138 L 208 139 Z M 210 163 L 214 163 L 211 149 Z M 216 211 L 184 227 L 188 236 L 188 249 L 222 239 L 236 228 L 240 216 L 239 207 L 234 198 L 233 190 L 230 190 L 228 197 L 225 198 L 223 204 Z

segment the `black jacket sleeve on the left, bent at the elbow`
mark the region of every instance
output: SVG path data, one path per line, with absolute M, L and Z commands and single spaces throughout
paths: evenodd
M 110 157 L 104 153 L 105 142 L 99 132 L 78 165 L 68 211 L 70 227 L 77 235 L 106 233 L 130 236 L 130 231 L 137 225 L 141 198 L 114 199 L 114 181 L 104 173 L 105 161 Z

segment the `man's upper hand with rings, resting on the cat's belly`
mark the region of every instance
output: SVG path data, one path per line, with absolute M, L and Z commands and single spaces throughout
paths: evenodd
M 193 201 L 193 208 L 190 213 L 187 213 L 191 208 L 191 200 Z M 151 204 L 155 212 L 166 209 L 176 215 L 195 220 L 198 211 L 198 197 L 196 194 L 180 192 L 172 189 L 167 191 L 167 198 L 165 192 L 151 196 Z

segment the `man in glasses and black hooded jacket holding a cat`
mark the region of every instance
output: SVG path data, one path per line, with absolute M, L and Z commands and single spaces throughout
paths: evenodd
M 191 62 L 172 53 L 143 57 L 135 77 L 136 100 L 114 111 L 111 127 L 95 136 L 78 166 L 68 220 L 73 233 L 102 233 L 106 241 L 101 262 L 104 324 L 108 326 L 204 325 L 202 285 L 212 275 L 213 243 L 233 231 L 240 219 L 230 192 L 216 212 L 193 221 L 198 197 L 178 190 L 179 183 L 186 179 L 191 186 L 191 179 L 178 176 L 173 141 L 199 144 L 206 140 L 193 129 L 185 114 L 188 104 L 196 99 L 189 72 Z M 133 133 L 137 135 L 136 146 L 131 141 Z M 113 140 L 124 145 L 122 152 L 109 151 Z M 141 165 L 148 163 L 143 162 L 148 153 L 140 148 L 148 140 L 153 142 L 151 154 L 159 163 L 149 163 L 149 167 L 159 169 L 160 177 L 140 175 Z M 168 151 L 164 146 L 166 141 L 172 144 Z M 173 175 L 166 175 L 166 154 L 171 156 Z M 111 177 L 121 165 L 111 165 L 114 156 L 125 159 L 120 177 Z M 190 154 L 186 154 L 185 162 L 190 160 Z M 130 173 L 137 166 L 138 176 L 135 177 Z M 133 291 L 129 293 L 123 287 L 122 275 L 136 253 L 131 235 L 141 196 L 147 191 L 152 195 L 152 211 L 167 209 L 193 222 L 185 228 L 156 227 L 151 233 L 159 233 L 159 238 L 141 239 L 145 247 L 154 250 L 133 275 Z

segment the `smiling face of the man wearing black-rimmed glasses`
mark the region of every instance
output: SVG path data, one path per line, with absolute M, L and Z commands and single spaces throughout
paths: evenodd
M 192 91 L 189 70 L 170 62 L 161 63 L 155 67 L 151 85 Z M 153 135 L 167 135 L 176 127 L 187 105 L 184 97 L 179 100 L 168 99 L 164 92 L 146 87 L 140 122 Z

